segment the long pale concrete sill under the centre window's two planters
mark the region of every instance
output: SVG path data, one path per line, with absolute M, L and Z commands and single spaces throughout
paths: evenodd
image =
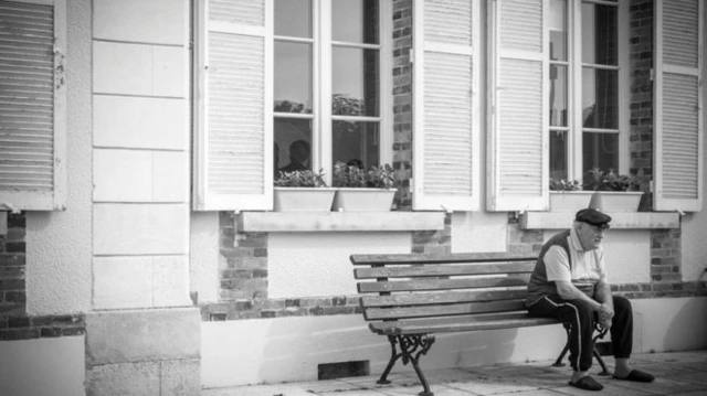
M 444 212 L 241 212 L 239 232 L 444 229 Z

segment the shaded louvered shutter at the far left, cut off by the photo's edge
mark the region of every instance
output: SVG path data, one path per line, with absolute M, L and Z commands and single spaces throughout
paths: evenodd
M 0 211 L 65 208 L 65 0 L 0 0 Z

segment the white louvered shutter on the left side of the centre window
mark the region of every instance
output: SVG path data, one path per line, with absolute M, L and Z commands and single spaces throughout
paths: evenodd
M 272 210 L 272 0 L 207 0 L 197 12 L 194 207 Z

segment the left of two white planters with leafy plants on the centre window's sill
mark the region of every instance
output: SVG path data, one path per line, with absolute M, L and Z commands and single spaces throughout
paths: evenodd
M 281 171 L 275 180 L 275 211 L 328 212 L 335 193 L 334 189 L 327 188 L 321 170 Z

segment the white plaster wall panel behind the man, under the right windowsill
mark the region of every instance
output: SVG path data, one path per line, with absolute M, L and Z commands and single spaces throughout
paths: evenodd
M 546 231 L 545 240 L 555 234 L 557 231 Z M 610 282 L 651 281 L 651 233 L 647 229 L 610 229 L 602 245 Z

